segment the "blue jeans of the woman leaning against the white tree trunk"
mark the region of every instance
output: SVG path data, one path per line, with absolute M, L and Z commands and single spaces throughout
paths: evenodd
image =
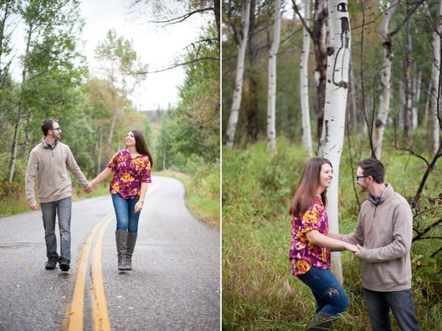
M 329 269 L 320 270 L 312 266 L 298 278 L 313 292 L 316 314 L 322 312 L 334 316 L 348 307 L 347 294 Z

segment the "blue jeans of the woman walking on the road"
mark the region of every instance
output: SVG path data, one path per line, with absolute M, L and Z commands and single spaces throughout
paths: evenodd
M 117 231 L 129 231 L 133 234 L 138 232 L 140 211 L 135 213 L 138 200 L 138 198 L 124 199 L 117 193 L 112 195 L 113 208 L 117 217 Z

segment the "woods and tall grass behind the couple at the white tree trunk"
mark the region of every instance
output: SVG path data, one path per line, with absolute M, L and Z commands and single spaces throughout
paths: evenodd
M 324 107 L 330 106 L 324 104 L 320 93 L 325 93 L 325 88 L 320 85 L 332 80 L 323 75 L 329 41 L 321 45 L 318 40 L 328 31 L 327 1 L 311 1 L 307 7 L 311 8 L 311 19 L 305 25 L 311 34 L 305 32 L 300 19 L 306 18 L 305 3 L 309 2 L 279 3 L 280 44 L 274 73 L 276 146 L 272 148 L 269 68 L 276 40 L 275 2 L 222 2 L 223 330 L 305 330 L 314 316 L 313 296 L 291 276 L 287 256 L 289 203 L 307 160 L 320 150 Z M 345 140 L 339 176 L 334 178 L 339 183 L 339 231 L 347 234 L 354 230 L 365 200 L 355 184 L 356 162 L 378 155 L 385 164 L 386 181 L 412 206 L 412 290 L 421 330 L 440 330 L 441 1 L 348 1 L 347 8 L 352 36 L 347 107 L 331 105 L 335 113 L 345 111 Z M 390 25 L 385 32 L 387 15 Z M 301 109 L 304 35 L 311 38 L 307 50 L 311 151 L 303 139 Z M 238 64 L 244 44 L 244 62 Z M 385 82 L 387 67 L 391 77 Z M 239 85 L 238 69 L 243 70 Z M 242 93 L 232 142 L 228 127 L 238 90 Z M 385 102 L 385 91 L 390 93 L 390 103 L 384 120 L 379 109 Z M 382 126 L 382 149 L 376 151 L 376 131 Z M 361 288 L 361 263 L 348 252 L 341 257 L 350 304 L 333 330 L 371 330 Z M 393 328 L 398 330 L 395 322 Z

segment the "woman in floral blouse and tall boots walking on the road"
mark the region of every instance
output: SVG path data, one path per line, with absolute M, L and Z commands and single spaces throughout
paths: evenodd
M 138 130 L 131 130 L 126 135 L 126 149 L 117 151 L 106 169 L 90 182 L 90 187 L 94 188 L 114 173 L 109 191 L 117 218 L 115 241 L 119 270 L 132 269 L 138 220 L 143 209 L 147 184 L 151 182 L 152 166 L 152 155 L 144 136 Z

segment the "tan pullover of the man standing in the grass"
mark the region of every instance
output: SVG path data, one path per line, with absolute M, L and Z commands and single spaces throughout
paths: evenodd
M 377 205 L 372 200 L 363 203 L 354 233 L 343 236 L 343 240 L 363 245 L 364 288 L 378 292 L 407 290 L 412 283 L 412 210 L 392 185 L 385 186 Z

